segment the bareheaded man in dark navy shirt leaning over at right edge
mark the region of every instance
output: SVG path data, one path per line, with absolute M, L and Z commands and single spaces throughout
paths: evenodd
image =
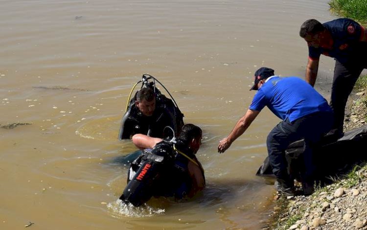
M 333 129 L 343 133 L 344 109 L 349 94 L 363 69 L 367 68 L 367 30 L 351 19 L 321 24 L 310 19 L 301 25 L 299 36 L 308 45 L 306 81 L 315 85 L 321 54 L 335 59 L 330 107 Z

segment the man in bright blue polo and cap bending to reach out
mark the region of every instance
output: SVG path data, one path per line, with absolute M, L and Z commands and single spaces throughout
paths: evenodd
M 274 70 L 262 67 L 255 72 L 257 90 L 247 113 L 241 117 L 227 138 L 218 145 L 218 152 L 225 152 L 241 136 L 252 121 L 267 106 L 282 121 L 269 133 L 266 144 L 270 164 L 276 177 L 275 188 L 286 195 L 294 195 L 294 183 L 287 172 L 285 150 L 296 140 L 305 139 L 303 153 L 304 172 L 302 186 L 305 194 L 313 191 L 312 152 L 310 144 L 320 140 L 332 125 L 333 116 L 325 98 L 298 77 L 279 77 Z

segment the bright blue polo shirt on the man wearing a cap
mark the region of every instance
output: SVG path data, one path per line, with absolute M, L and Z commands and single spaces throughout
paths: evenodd
M 325 98 L 298 77 L 269 77 L 253 97 L 250 110 L 261 111 L 265 106 L 290 122 L 315 112 L 331 112 Z

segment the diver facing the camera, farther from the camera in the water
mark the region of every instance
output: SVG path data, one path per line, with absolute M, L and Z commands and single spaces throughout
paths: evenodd
M 122 119 L 119 139 L 132 138 L 135 134 L 163 138 L 166 126 L 178 135 L 184 125 L 183 114 L 172 100 L 154 92 L 151 87 L 141 88 L 132 102 Z

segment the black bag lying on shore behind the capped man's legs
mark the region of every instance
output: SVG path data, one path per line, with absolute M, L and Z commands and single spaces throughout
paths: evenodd
M 329 180 L 330 176 L 343 174 L 352 169 L 354 165 L 366 161 L 366 145 L 367 125 L 345 132 L 341 138 L 323 137 L 313 150 L 317 176 L 315 180 Z M 292 178 L 298 178 L 303 151 L 303 139 L 291 143 L 285 151 L 288 172 Z M 256 176 L 275 178 L 268 157 L 258 169 Z

